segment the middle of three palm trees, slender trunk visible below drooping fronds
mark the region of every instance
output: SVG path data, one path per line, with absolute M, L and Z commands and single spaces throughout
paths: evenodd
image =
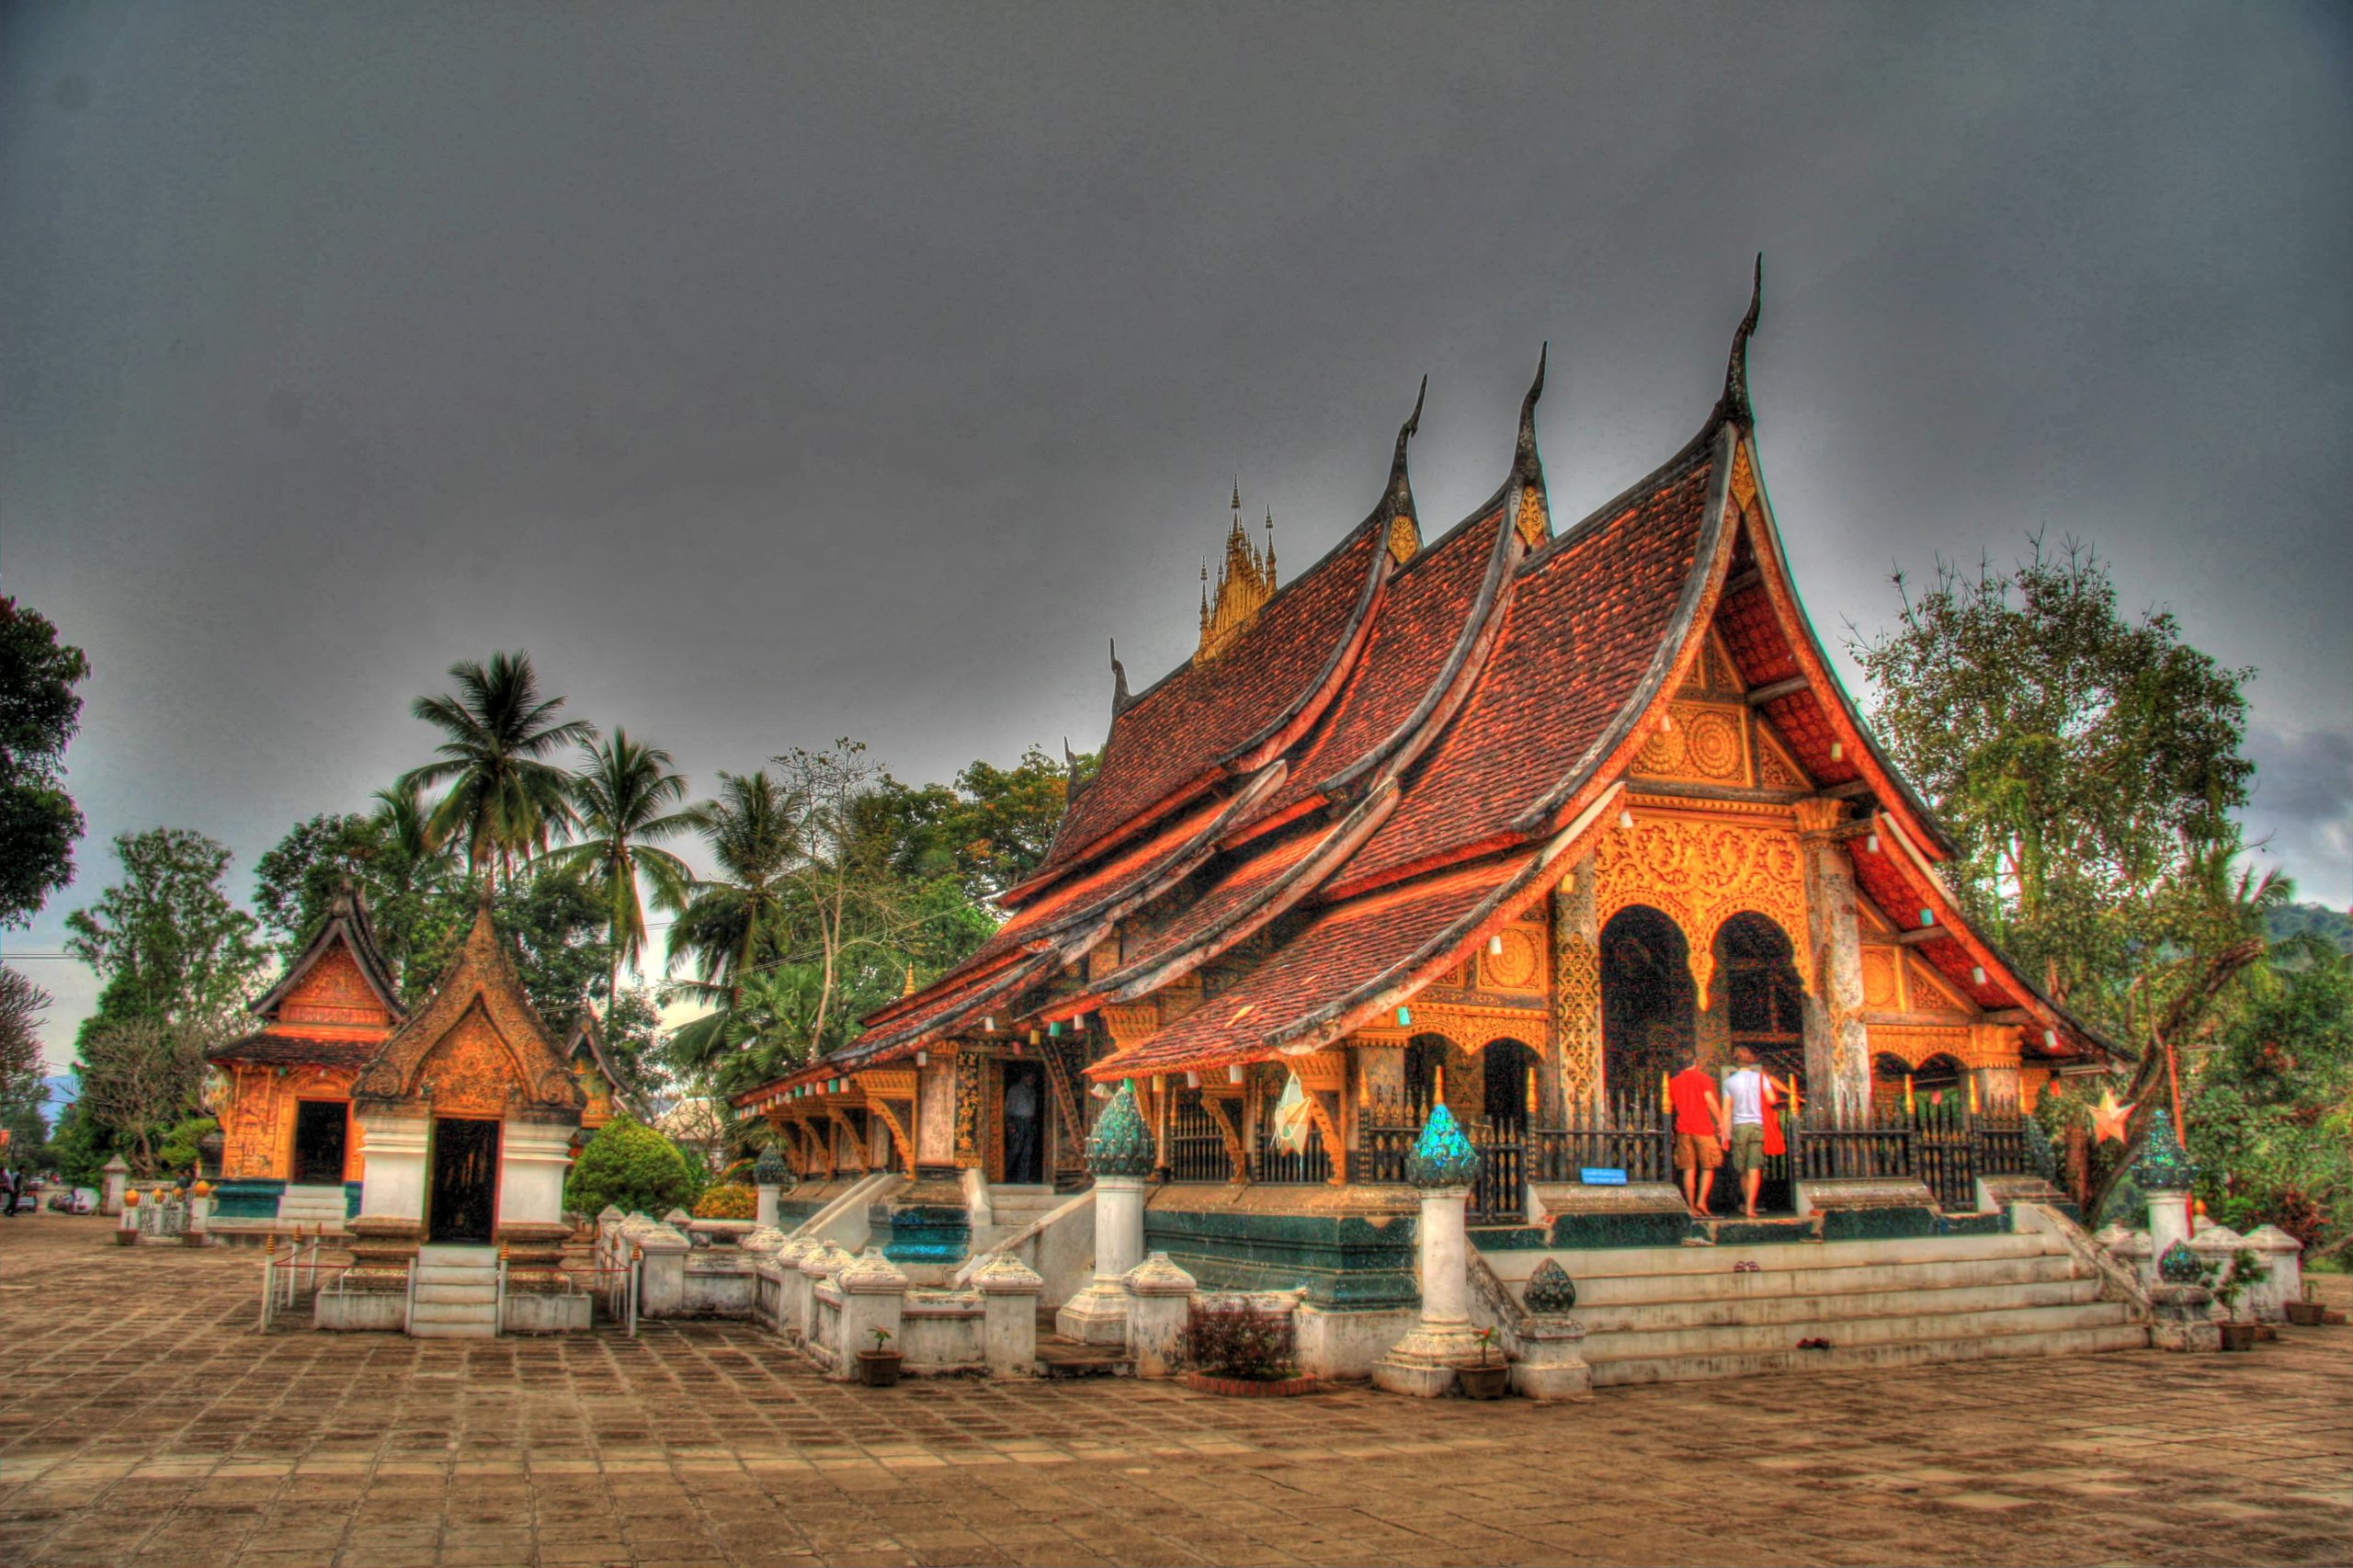
M 576 871 L 588 892 L 605 906 L 605 932 L 612 944 L 612 972 L 605 979 L 605 1017 L 621 998 L 621 961 L 631 965 L 645 951 L 645 899 L 638 881 L 654 890 L 654 906 L 678 911 L 687 904 L 694 871 L 668 850 L 652 848 L 678 838 L 699 824 L 692 810 L 668 810 L 687 798 L 687 779 L 671 772 L 671 753 L 640 746 L 614 727 L 605 744 L 584 744 L 586 763 L 572 779 L 572 810 L 581 841 L 544 857 L 546 864 Z

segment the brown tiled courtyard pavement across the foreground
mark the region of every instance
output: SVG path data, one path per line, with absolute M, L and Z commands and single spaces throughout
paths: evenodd
M 2353 1330 L 1417 1403 L 824 1384 L 741 1326 L 254 1333 L 256 1253 L 0 1224 L 0 1563 L 2353 1561 Z

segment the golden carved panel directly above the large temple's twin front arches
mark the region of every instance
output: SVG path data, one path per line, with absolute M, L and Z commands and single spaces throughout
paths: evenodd
M 1715 932 L 1737 913 L 1760 913 L 1791 939 L 1798 982 L 1812 991 L 1800 864 L 1798 833 L 1784 826 L 1642 815 L 1593 850 L 1595 918 L 1607 925 L 1628 904 L 1671 918 L 1689 946 L 1692 984 L 1708 996 Z

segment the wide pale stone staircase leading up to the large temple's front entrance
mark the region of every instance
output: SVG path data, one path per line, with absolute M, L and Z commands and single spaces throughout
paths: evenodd
M 2148 1344 L 2148 1330 L 2129 1321 L 2122 1302 L 2099 1300 L 2099 1278 L 2059 1236 L 1482 1257 L 1515 1300 L 1546 1257 L 1569 1274 L 1595 1387 Z M 1800 1349 L 1800 1342 L 1812 1344 Z

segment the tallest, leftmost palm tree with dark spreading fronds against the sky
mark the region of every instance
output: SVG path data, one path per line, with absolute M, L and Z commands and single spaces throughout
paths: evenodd
M 548 753 L 588 744 L 595 730 L 584 720 L 555 723 L 562 697 L 539 697 L 539 671 L 527 652 L 499 652 L 489 666 L 459 659 L 449 666 L 456 697 L 419 697 L 412 713 L 438 725 L 440 760 L 400 775 L 400 789 L 449 784 L 433 808 L 433 843 L 466 843 L 466 873 L 489 899 L 489 873 L 515 871 L 515 857 L 544 850 L 560 826 L 569 826 L 572 775 L 548 763 Z

